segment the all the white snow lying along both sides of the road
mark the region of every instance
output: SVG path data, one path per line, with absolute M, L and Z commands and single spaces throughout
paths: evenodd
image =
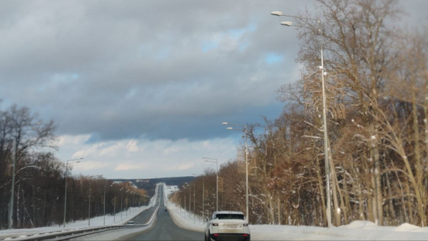
M 177 190 L 176 186 L 165 186 L 165 197 Z M 106 216 L 106 225 L 121 225 L 131 220 L 148 207 L 153 207 L 154 198 L 152 198 L 148 206 L 136 207 L 127 213 L 122 212 L 116 214 L 116 221 L 113 221 L 113 216 Z M 204 232 L 205 223 L 201 217 L 195 217 L 174 205 L 172 202 L 165 202 L 165 206 L 169 210 L 169 214 L 174 222 L 183 228 Z M 206 217 L 205 217 L 206 218 Z M 91 218 L 91 227 L 103 226 L 103 216 Z M 23 236 L 40 233 L 53 232 L 62 230 L 72 230 L 76 228 L 88 227 L 88 220 L 76 221 L 68 223 L 66 227 L 38 227 L 31 229 L 15 229 L 15 230 L 0 230 L 0 239 L 11 236 Z M 132 232 L 139 232 L 144 228 L 133 228 Z M 340 227 L 311 227 L 311 226 L 291 226 L 291 225 L 250 225 L 251 240 L 428 240 L 428 227 L 418 227 L 404 223 L 398 227 L 377 226 L 369 221 L 354 221 L 349 225 Z M 91 240 L 112 240 L 129 234 L 131 229 L 123 231 L 112 231 L 94 235 Z M 89 237 L 85 237 L 86 240 Z

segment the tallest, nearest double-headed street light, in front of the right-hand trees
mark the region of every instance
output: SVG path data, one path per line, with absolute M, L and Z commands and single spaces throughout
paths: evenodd
M 320 19 L 311 19 L 311 18 L 305 18 L 302 16 L 292 16 L 292 15 L 286 15 L 286 14 L 282 14 L 281 11 L 272 11 L 272 13 L 270 13 L 274 16 L 289 16 L 291 18 L 294 19 L 307 19 L 307 20 L 312 20 L 312 21 L 317 21 L 318 24 L 318 29 L 315 29 L 318 31 L 319 34 L 322 34 L 322 25 L 321 25 L 321 21 Z M 291 21 L 283 21 L 281 23 L 284 26 L 293 26 Z M 295 25 L 297 27 L 301 27 L 301 28 L 306 28 L 306 29 L 312 29 L 306 26 L 298 26 Z M 313 30 L 313 29 L 312 29 Z M 322 83 L 322 127 L 324 130 L 324 158 L 325 158 L 325 183 L 326 183 L 326 196 L 327 196 L 327 208 L 326 208 L 326 212 L 327 212 L 327 227 L 331 227 L 332 226 L 332 211 L 331 211 L 331 207 L 330 207 L 330 159 L 329 159 L 329 153 L 328 153 L 328 135 L 327 135 L 327 104 L 325 101 L 325 81 L 324 81 L 324 56 L 322 54 L 322 44 L 321 44 L 321 83 Z

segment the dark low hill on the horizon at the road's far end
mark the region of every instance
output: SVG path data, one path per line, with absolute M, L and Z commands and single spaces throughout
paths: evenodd
M 193 176 L 187 177 L 175 177 L 175 178 L 148 178 L 148 179 L 110 179 L 118 182 L 131 182 L 136 185 L 137 188 L 147 190 L 148 195 L 152 196 L 155 194 L 156 183 L 166 183 L 166 185 L 183 185 L 189 183 L 195 179 Z

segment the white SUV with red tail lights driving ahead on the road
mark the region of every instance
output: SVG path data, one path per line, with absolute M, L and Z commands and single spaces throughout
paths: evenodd
M 205 241 L 209 240 L 245 240 L 250 241 L 250 227 L 243 212 L 213 212 L 205 227 Z

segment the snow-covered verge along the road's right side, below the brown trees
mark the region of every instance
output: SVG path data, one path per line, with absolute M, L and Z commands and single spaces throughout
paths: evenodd
M 165 198 L 177 190 L 165 186 Z M 205 224 L 172 202 L 165 202 L 174 222 L 180 227 L 204 232 Z M 291 225 L 250 225 L 251 240 L 428 240 L 428 227 L 404 223 L 398 227 L 377 226 L 373 222 L 354 221 L 340 227 L 312 227 Z

